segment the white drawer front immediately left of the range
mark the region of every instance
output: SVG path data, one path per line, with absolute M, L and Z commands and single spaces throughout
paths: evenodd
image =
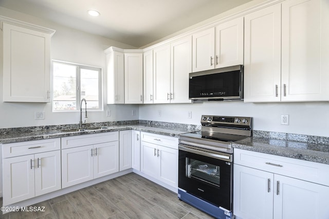
M 141 140 L 178 150 L 178 138 L 141 132 Z

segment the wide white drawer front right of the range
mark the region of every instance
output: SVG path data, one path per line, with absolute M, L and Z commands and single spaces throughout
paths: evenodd
M 234 163 L 329 186 L 329 165 L 242 149 L 234 149 Z

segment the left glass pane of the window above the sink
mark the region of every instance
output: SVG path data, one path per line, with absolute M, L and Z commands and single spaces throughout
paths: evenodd
M 53 62 L 53 110 L 77 109 L 77 68 L 74 65 Z

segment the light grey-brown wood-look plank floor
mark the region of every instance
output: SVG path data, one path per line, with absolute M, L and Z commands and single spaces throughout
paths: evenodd
M 0 218 L 213 218 L 135 173 L 33 206 L 45 207 L 45 212 L 10 212 Z

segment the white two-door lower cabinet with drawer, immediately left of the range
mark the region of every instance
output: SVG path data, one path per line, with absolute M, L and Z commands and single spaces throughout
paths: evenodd
M 141 133 L 141 172 L 174 188 L 178 187 L 178 139 Z M 150 140 L 150 136 L 153 138 Z M 168 139 L 177 144 L 168 144 Z M 147 142 L 157 141 L 158 143 Z M 161 142 L 163 145 L 161 145 Z M 165 146 L 166 145 L 166 146 Z

